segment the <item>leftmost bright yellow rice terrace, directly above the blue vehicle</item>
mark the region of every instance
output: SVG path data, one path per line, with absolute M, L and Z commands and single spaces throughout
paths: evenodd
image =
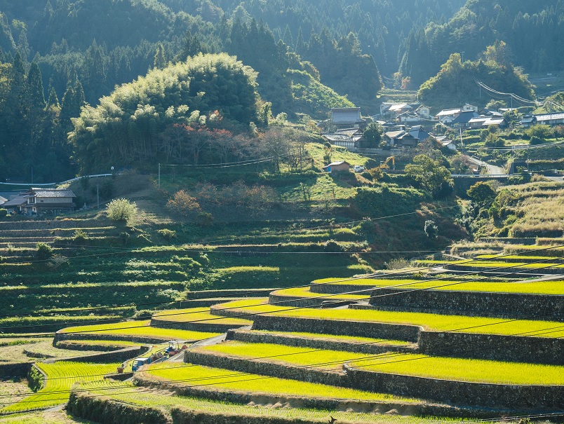
M 63 333 L 83 334 L 116 334 L 119 336 L 138 336 L 169 338 L 170 340 L 196 341 L 203 338 L 219 336 L 218 333 L 202 333 L 199 331 L 185 331 L 176 329 L 163 329 L 150 327 L 150 320 L 127 321 L 116 324 L 83 325 L 79 327 L 67 327 Z

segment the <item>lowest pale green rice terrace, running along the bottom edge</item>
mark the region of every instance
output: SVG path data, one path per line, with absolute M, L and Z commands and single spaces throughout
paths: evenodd
M 199 413 L 222 414 L 236 416 L 236 420 L 244 422 L 245 416 L 279 417 L 294 420 L 305 420 L 307 423 L 327 423 L 330 416 L 336 418 L 340 423 L 375 423 L 375 424 L 431 424 L 431 423 L 457 423 L 460 420 L 419 418 L 415 416 L 387 415 L 377 413 L 355 413 L 346 411 L 322 411 L 300 408 L 273 408 L 260 405 L 244 406 L 227 402 L 213 402 L 194 397 L 171 396 L 166 391 L 147 391 L 130 385 L 131 390 L 124 390 L 123 383 L 113 383 L 116 388 L 93 383 L 83 385 L 85 390 L 98 390 L 104 388 L 101 395 L 108 395 L 112 399 L 127 404 L 140 406 L 156 406 L 165 409 L 183 407 L 192 409 Z M 125 392 L 126 393 L 123 393 Z M 96 392 L 98 393 L 98 391 Z M 303 422 L 303 421 L 302 421 Z

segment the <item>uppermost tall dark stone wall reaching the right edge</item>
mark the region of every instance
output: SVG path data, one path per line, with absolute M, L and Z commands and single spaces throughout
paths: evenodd
M 464 285 L 460 286 L 461 289 Z M 564 296 L 555 294 L 458 292 L 450 290 L 375 289 L 370 304 L 413 312 L 564 321 Z M 402 293 L 395 296 L 395 294 Z M 440 306 L 440 308 L 437 308 Z

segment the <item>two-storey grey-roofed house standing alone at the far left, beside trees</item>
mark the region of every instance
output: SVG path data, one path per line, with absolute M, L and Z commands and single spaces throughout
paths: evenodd
M 27 215 L 60 214 L 74 210 L 75 198 L 71 190 L 31 189 L 16 198 L 18 199 L 16 206 L 18 212 Z M 25 203 L 22 203 L 22 199 L 25 200 Z

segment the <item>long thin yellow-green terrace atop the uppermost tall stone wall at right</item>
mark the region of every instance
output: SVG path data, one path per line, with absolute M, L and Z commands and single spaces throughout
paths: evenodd
M 562 280 L 551 281 L 516 281 L 516 282 L 489 282 L 489 281 L 454 281 L 454 280 L 435 280 L 435 281 L 422 281 L 422 280 L 380 280 L 361 278 L 358 280 L 342 280 L 340 278 L 324 278 L 316 280 L 315 283 L 330 283 L 335 281 L 336 285 L 358 285 L 358 289 L 363 289 L 363 286 L 370 287 L 397 287 L 401 289 L 429 289 L 436 288 L 437 290 L 453 290 L 464 292 L 502 292 L 502 293 L 530 293 L 530 294 L 564 294 L 564 284 Z M 438 287 L 446 285 L 445 287 Z

